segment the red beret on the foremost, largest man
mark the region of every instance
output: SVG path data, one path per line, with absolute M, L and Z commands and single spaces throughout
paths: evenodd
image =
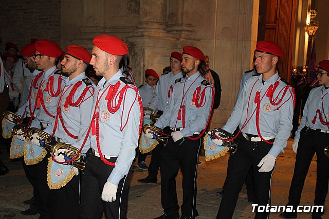
M 93 43 L 95 46 L 109 54 L 123 56 L 128 53 L 127 45 L 116 36 L 99 35 L 94 38 Z

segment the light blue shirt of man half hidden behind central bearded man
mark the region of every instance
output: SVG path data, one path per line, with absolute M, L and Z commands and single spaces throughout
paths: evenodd
M 173 93 L 173 87 L 175 86 L 175 81 L 178 78 L 182 78 L 183 75 L 179 72 L 177 75 L 173 75 L 172 72 L 168 74 L 161 75 L 153 95 L 152 101 L 150 103 L 150 108 L 154 111 L 165 111 L 166 106 L 170 100 Z M 170 95 L 169 95 L 170 94 Z M 170 97 L 169 97 L 170 96 Z

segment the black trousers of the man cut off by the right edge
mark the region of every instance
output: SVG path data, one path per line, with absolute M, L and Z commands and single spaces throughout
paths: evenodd
M 293 179 L 289 190 L 289 203 L 295 208 L 300 198 L 314 153 L 317 154 L 317 184 L 315 187 L 314 205 L 325 204 L 329 182 L 329 157 L 324 155 L 324 148 L 328 145 L 329 133 L 322 133 L 304 127 L 300 133 Z

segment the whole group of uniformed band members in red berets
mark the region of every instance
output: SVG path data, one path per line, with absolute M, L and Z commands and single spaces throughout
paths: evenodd
M 31 39 L 21 50 L 6 43 L 0 60 L 1 116 L 7 112 L 3 133 L 6 124 L 16 129 L 12 138 L 4 135 L 2 141 L 10 156 L 22 160 L 33 187 L 33 197 L 24 201 L 30 208 L 22 214 L 100 218 L 104 212 L 106 218 L 127 218 L 137 157 L 137 167 L 148 170 L 139 182 L 158 182 L 160 171 L 163 214 L 156 218 L 197 217 L 199 156 L 205 154 L 203 138 L 222 91 L 209 57 L 193 46 L 173 51 L 163 74 L 145 69 L 145 83 L 137 88 L 128 66 L 129 49 L 121 39 L 98 35 L 90 44 L 91 52 L 79 45 L 62 51 L 49 40 Z M 253 69 L 242 78 L 232 114 L 222 127 L 234 135 L 238 147 L 228 160 L 217 218 L 232 218 L 244 182 L 254 204 L 270 205 L 272 173 L 293 129 L 295 106 L 294 88 L 277 70 L 282 56 L 276 43 L 257 42 Z M 315 153 L 315 205 L 324 205 L 328 190 L 324 148 L 329 140 L 329 60 L 319 62 L 317 78 L 320 86 L 310 92 L 293 143 L 297 155 L 287 205 L 295 210 Z M 151 125 L 143 133 L 145 123 Z M 166 141 L 159 140 L 163 136 Z M 142 137 L 158 141 L 149 166 L 139 145 Z M 215 133 L 211 143 L 220 146 L 225 141 Z M 181 206 L 176 192 L 179 169 Z M 7 172 L 0 162 L 0 174 Z M 321 218 L 323 212 L 312 216 Z M 255 218 L 268 216 L 256 209 Z M 296 218 L 297 212 L 280 216 Z

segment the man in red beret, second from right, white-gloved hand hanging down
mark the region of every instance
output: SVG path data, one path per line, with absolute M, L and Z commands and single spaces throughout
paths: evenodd
M 260 76 L 245 83 L 231 117 L 223 129 L 233 133 L 240 124 L 237 151 L 228 161 L 223 198 L 217 218 L 232 218 L 239 192 L 252 167 L 254 204 L 270 205 L 270 182 L 275 160 L 286 147 L 293 128 L 295 94 L 281 80 L 277 63 L 284 52 L 275 43 L 260 41 L 254 51 L 254 64 Z M 222 140 L 214 139 L 217 145 Z M 257 212 L 255 218 L 268 218 L 269 212 Z

